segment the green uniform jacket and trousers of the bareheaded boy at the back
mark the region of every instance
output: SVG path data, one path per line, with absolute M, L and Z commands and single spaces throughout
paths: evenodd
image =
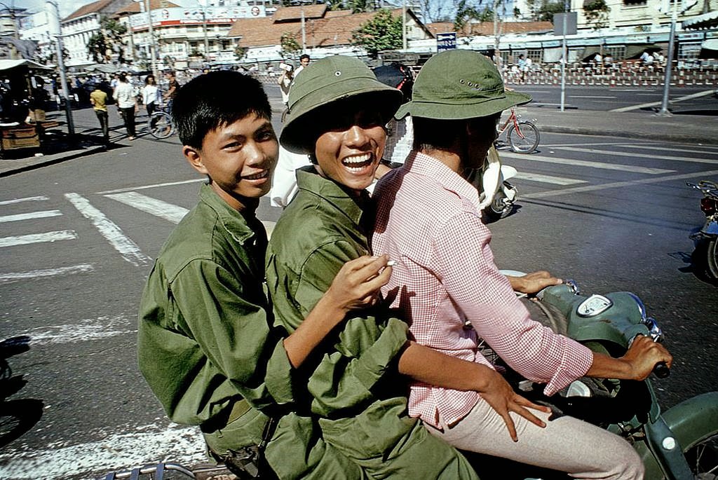
M 274 415 L 281 419 L 266 456 L 279 478 L 361 478 L 310 418 L 287 413 L 296 407 L 297 372 L 284 350 L 286 331 L 271 327 L 266 241 L 253 212 L 234 210 L 202 186 L 144 289 L 142 375 L 169 418 L 200 425 L 215 453 L 258 444 L 266 415 Z

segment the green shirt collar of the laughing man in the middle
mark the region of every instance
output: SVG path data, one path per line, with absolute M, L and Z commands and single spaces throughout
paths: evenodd
M 369 203 L 369 194 L 366 190 L 360 197 L 353 197 L 340 184 L 322 177 L 313 165 L 297 169 L 297 187 L 334 204 L 355 224 L 362 225 Z

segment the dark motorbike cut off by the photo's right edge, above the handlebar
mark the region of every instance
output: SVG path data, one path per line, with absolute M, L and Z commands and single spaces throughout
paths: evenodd
M 698 232 L 690 235 L 696 242 L 694 258 L 702 268 L 702 273 L 715 282 L 718 281 L 718 184 L 701 180 L 697 184 L 686 182 L 686 185 L 700 190 L 701 210 L 706 215 L 706 222 Z

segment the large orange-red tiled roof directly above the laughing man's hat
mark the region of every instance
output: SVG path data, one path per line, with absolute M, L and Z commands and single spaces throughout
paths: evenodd
M 297 7 L 288 7 L 296 9 Z M 258 19 L 238 19 L 230 29 L 227 37 L 242 37 L 241 47 L 265 47 L 281 43 L 281 36 L 286 32 L 294 35 L 297 42 L 302 42 L 302 22 L 277 22 L 276 17 L 284 9 L 277 9 L 274 17 Z M 374 17 L 375 12 L 353 14 L 350 10 L 326 11 L 325 17 L 309 19 L 305 16 L 304 34 L 307 47 L 331 47 L 351 43 L 352 33 L 361 24 Z M 392 10 L 393 15 L 401 15 L 401 9 Z M 285 18 L 286 17 L 281 17 Z

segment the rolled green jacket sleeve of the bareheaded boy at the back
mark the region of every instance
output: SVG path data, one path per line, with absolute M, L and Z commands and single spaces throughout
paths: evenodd
M 256 303 L 254 292 L 261 287 L 243 285 L 242 278 L 212 261 L 193 260 L 171 288 L 180 310 L 178 328 L 186 330 L 207 357 L 198 372 L 205 385 L 214 385 L 213 377 L 220 374 L 260 409 L 292 401 L 292 366 L 283 331 L 271 329 L 266 303 Z

